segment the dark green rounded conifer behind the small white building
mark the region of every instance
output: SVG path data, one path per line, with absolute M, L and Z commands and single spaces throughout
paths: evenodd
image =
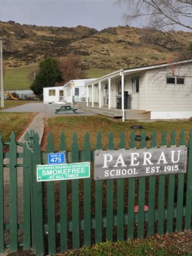
M 57 60 L 48 57 L 39 63 L 39 72 L 31 85 L 31 90 L 40 96 L 43 93 L 43 87 L 52 87 L 56 82 L 61 81 L 62 76 Z

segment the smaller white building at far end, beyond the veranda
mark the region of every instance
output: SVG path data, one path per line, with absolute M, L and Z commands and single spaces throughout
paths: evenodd
M 70 80 L 63 86 L 54 86 L 43 88 L 43 102 L 65 104 L 86 101 L 85 83 L 94 79 L 76 79 Z

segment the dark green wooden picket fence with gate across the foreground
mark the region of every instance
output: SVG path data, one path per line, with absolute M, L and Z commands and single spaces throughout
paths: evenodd
M 146 133 L 142 133 L 141 148 L 146 148 Z M 10 222 L 4 223 L 3 207 L 0 209 L 0 252 L 10 247 L 11 252 L 32 248 L 37 255 L 64 253 L 69 248 L 90 246 L 105 240 L 124 240 L 163 235 L 165 232 L 190 230 L 192 215 L 192 132 L 188 145 L 188 170 L 186 174 L 170 174 L 117 180 L 62 180 L 37 182 L 36 165 L 47 163 L 47 153 L 54 151 L 51 134 L 46 152 L 41 152 L 38 134 L 26 134 L 25 143 L 15 143 L 12 133 L 10 143 L 2 143 L 0 136 L 0 204 L 3 206 L 3 168 L 10 170 Z M 176 147 L 175 131 L 169 142 Z M 185 146 L 184 131 L 180 146 Z M 23 147 L 17 153 L 17 147 Z M 9 146 L 9 152 L 3 152 Z M 161 147 L 167 146 L 166 133 L 161 136 Z M 156 133 L 151 134 L 151 148 L 156 148 Z M 114 149 L 113 134 L 109 133 L 107 148 Z M 125 134 L 120 134 L 119 149 L 125 149 Z M 135 149 L 135 134 L 130 134 L 129 148 Z M 95 149 L 103 149 L 101 134 L 97 135 Z M 135 149 L 136 150 L 136 149 Z M 66 151 L 67 163 L 94 162 L 89 134 L 84 137 L 84 148 L 79 150 L 77 135 L 73 135 L 71 150 L 66 150 L 65 136 L 61 134 L 59 152 Z M 23 159 L 18 164 L 18 159 Z M 5 163 L 4 159 L 9 160 Z M 17 222 L 17 168 L 23 168 L 23 221 Z M 187 191 L 185 191 L 185 183 Z M 175 191 L 177 184 L 177 191 Z M 175 192 L 177 202 L 175 202 Z M 183 197 L 186 203 L 183 205 Z M 134 206 L 139 205 L 139 211 Z M 149 206 L 144 211 L 144 205 Z M 9 230 L 9 242 L 5 241 Z M 22 243 L 18 231 L 23 232 Z M 5 240 L 4 240 L 5 239 Z M 45 249 L 48 248 L 48 249 Z M 47 250 L 47 251 L 46 251 Z

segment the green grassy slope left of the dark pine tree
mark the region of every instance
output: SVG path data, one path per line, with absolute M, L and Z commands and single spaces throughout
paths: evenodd
M 27 90 L 31 85 L 29 74 L 37 69 L 38 65 L 5 69 L 4 88 L 5 90 Z

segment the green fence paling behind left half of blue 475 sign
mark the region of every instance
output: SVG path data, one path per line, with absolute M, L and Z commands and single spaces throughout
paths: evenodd
M 46 152 L 53 152 L 53 142 L 51 134 L 48 134 L 48 144 Z M 55 240 L 55 191 L 54 181 L 46 183 L 47 189 L 47 221 L 48 221 L 48 251 L 49 254 L 56 253 L 56 240 Z

